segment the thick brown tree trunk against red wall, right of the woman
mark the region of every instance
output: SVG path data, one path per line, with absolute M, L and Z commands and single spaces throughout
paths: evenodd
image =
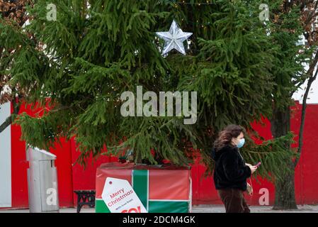
M 279 110 L 274 107 L 273 119 L 271 120 L 271 131 L 275 138 L 287 135 L 290 131 L 290 109 Z M 285 145 L 290 149 L 290 144 Z M 293 160 L 286 160 L 287 167 L 291 172 L 282 172 L 281 179 L 275 182 L 275 204 L 273 209 L 297 209 L 295 200 L 295 175 Z

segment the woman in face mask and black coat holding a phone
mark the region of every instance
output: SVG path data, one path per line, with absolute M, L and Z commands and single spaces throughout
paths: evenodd
M 239 148 L 245 143 L 244 133 L 241 126 L 229 125 L 219 133 L 212 149 L 215 189 L 227 213 L 250 212 L 243 192 L 247 187 L 246 179 L 251 177 L 257 167 L 245 163 L 239 153 Z

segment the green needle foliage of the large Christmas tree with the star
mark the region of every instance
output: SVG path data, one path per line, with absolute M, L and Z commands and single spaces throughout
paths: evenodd
M 57 21 L 46 19 L 50 3 L 57 6 Z M 1 60 L 6 65 L 2 69 L 11 74 L 12 83 L 30 91 L 28 102 L 51 108 L 37 118 L 18 117 L 23 139 L 47 149 L 60 137 L 75 136 L 83 164 L 104 153 L 107 145 L 108 154 L 118 156 L 132 149 L 135 162 L 167 159 L 187 165 L 194 155 L 190 145 L 212 167 L 209 153 L 218 131 L 229 123 L 251 129 L 252 121 L 271 116 L 278 84 L 273 72 L 285 54 L 259 21 L 258 4 L 213 3 L 40 0 L 28 9 L 33 20 L 25 29 L 0 23 L 1 47 L 18 49 L 11 59 Z M 167 31 L 173 19 L 193 33 L 191 48 L 186 56 L 172 51 L 162 57 L 154 32 Z M 30 42 L 26 33 L 42 46 Z M 8 41 L 11 34 L 15 38 Z M 288 75 L 290 68 L 298 69 L 284 67 Z M 135 94 L 137 85 L 157 94 L 198 92 L 197 123 L 184 125 L 180 117 L 124 118 L 120 94 Z M 254 161 L 261 155 L 264 171 L 276 175 L 273 165 L 291 154 L 280 149 L 283 139 L 255 146 L 244 156 Z

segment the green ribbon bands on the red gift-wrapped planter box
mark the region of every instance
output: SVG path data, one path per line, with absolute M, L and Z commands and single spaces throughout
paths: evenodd
M 188 213 L 190 201 L 149 199 L 149 170 L 132 170 L 132 188 L 149 213 Z M 103 199 L 96 199 L 96 213 L 110 213 Z

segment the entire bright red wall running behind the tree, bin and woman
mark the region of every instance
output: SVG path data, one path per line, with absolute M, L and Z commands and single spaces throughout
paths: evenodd
M 293 109 L 292 130 L 298 133 L 300 126 L 300 109 L 297 105 Z M 33 115 L 30 106 L 27 110 L 21 109 Z M 296 167 L 295 172 L 295 193 L 297 204 L 318 204 L 318 105 L 309 105 L 307 107 L 307 116 L 305 123 L 304 148 L 302 157 Z M 270 123 L 264 120 L 266 126 L 254 125 L 266 139 L 271 138 Z M 11 143 L 12 143 L 12 206 L 13 208 L 28 207 L 28 185 L 26 177 L 26 169 L 28 162 L 25 160 L 25 143 L 20 140 L 21 130 L 19 126 L 11 126 Z M 297 140 L 297 138 L 296 138 Z M 76 195 L 73 190 L 94 189 L 95 188 L 95 172 L 96 167 L 103 162 L 117 161 L 115 157 L 100 157 L 95 162 L 88 162 L 84 170 L 79 164 L 74 164 L 79 153 L 76 151 L 74 140 L 65 142 L 62 140 L 62 147 L 59 145 L 55 149 L 50 150 L 57 155 L 58 188 L 59 188 L 59 204 L 60 206 L 74 206 L 76 204 Z M 198 161 L 192 168 L 193 177 L 193 204 L 221 204 L 220 199 L 212 182 L 212 177 L 203 178 L 205 167 L 198 164 Z M 269 190 L 270 204 L 274 200 L 273 184 L 267 182 L 266 179 L 260 179 L 261 184 L 253 181 L 254 196 L 246 196 L 248 204 L 259 205 L 259 189 L 267 188 Z

